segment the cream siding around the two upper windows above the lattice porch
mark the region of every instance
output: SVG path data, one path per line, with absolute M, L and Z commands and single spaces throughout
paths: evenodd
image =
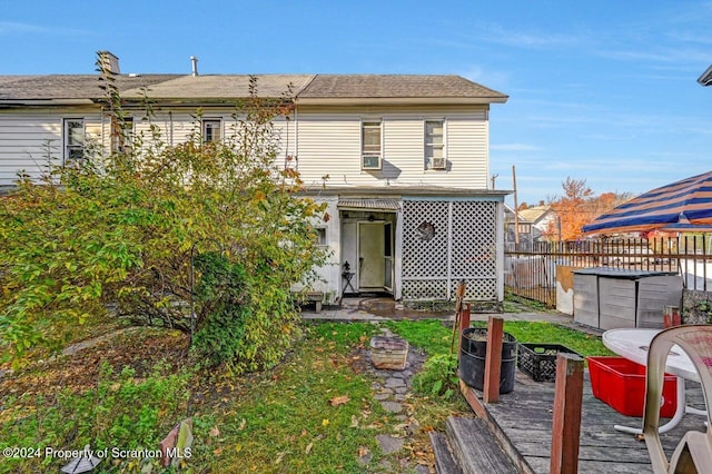
M 320 184 L 322 177 L 328 175 L 326 186 L 431 185 L 486 189 L 488 127 L 484 110 L 442 116 L 447 169 L 424 167 L 425 122 L 433 115 L 383 113 L 382 170 L 362 170 L 360 115 L 301 112 L 297 121 L 301 178 L 307 186 Z

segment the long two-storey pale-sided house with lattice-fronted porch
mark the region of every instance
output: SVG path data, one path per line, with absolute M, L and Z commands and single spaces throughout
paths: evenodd
M 204 139 L 227 136 L 236 100 L 249 93 L 248 76 L 120 75 L 108 58 L 125 110 L 136 111 L 132 131 L 146 130 L 147 88 L 169 145 L 196 127 Z M 296 109 L 275 127 L 281 159 L 298 158 L 305 194 L 332 216 L 318 226 L 333 257 L 312 288 L 326 303 L 352 292 L 447 300 L 461 280 L 467 299 L 502 302 L 508 191 L 487 188 L 488 115 L 507 96 L 457 76 L 257 78 L 263 97 L 293 88 Z M 71 160 L 89 142 L 116 145 L 102 98 L 96 76 L 0 76 L 0 186 L 21 169 L 36 177 L 48 160 Z

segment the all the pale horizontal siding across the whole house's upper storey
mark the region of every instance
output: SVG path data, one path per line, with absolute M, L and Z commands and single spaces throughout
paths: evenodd
M 231 111 L 220 108 L 205 110 L 210 118 L 222 120 L 224 138 L 234 134 Z M 372 115 L 373 113 L 373 115 Z M 132 113 L 136 136 L 145 146 L 151 141 L 149 122 L 141 113 Z M 379 117 L 382 124 L 382 169 L 362 169 L 362 122 Z M 444 148 L 447 169 L 425 169 L 425 124 L 442 119 L 445 124 Z M 0 115 L 0 184 L 11 185 L 17 172 L 24 169 L 37 177 L 47 168 L 48 144 L 55 162 L 63 156 L 62 119 L 82 118 L 87 140 L 99 140 L 110 149 L 109 119 L 98 110 L 87 113 L 60 110 Z M 167 146 L 188 141 L 200 131 L 200 121 L 188 111 L 164 112 L 154 119 Z M 274 122 L 279 150 L 275 157 L 283 165 L 287 155 L 297 156 L 301 179 L 306 186 L 443 186 L 486 189 L 488 185 L 488 125 L 486 108 L 463 111 L 417 109 L 392 111 L 388 108 L 299 111 L 291 120 L 278 118 Z M 103 131 L 103 137 L 101 134 Z M 59 161 L 58 161 L 59 160 Z

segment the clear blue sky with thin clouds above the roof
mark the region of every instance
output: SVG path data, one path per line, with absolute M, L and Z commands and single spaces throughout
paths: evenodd
M 91 4 L 91 7 L 89 7 Z M 566 177 L 634 195 L 712 168 L 712 1 L 6 2 L 0 75 L 455 73 L 510 96 L 491 174 L 518 201 Z M 512 204 L 513 198 L 507 198 Z

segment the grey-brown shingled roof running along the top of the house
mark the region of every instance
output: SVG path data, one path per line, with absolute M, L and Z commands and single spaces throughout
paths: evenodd
M 258 75 L 260 97 L 287 91 L 298 103 L 330 102 L 505 102 L 507 96 L 459 76 L 425 75 Z M 125 99 L 157 101 L 220 101 L 249 97 L 248 75 L 117 75 Z M 76 103 L 103 98 L 98 76 L 0 76 L 0 103 Z

